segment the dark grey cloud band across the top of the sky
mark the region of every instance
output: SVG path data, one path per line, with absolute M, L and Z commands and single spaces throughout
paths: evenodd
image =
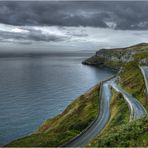
M 148 29 L 148 2 L 0 2 L 0 22 L 11 25 Z

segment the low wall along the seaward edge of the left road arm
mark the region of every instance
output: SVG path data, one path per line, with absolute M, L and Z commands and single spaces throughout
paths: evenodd
M 103 83 L 105 83 L 105 82 L 107 82 L 107 81 L 109 81 L 113 78 L 115 78 L 115 76 L 112 76 L 112 77 L 110 77 L 110 78 L 108 78 L 104 81 L 101 81 L 99 83 L 99 85 L 100 85 L 99 100 L 100 100 L 101 103 L 100 103 L 99 112 L 98 112 L 98 115 L 96 116 L 96 118 L 84 130 L 82 130 L 80 134 L 78 134 L 77 136 L 75 136 L 71 140 L 67 141 L 66 143 L 64 143 L 60 147 L 66 147 L 66 146 L 70 145 L 70 143 L 72 143 L 73 141 L 78 139 L 80 136 L 82 136 L 84 133 L 86 133 L 95 124 L 96 120 L 99 118 L 99 116 L 101 115 L 101 111 L 102 111 L 102 104 L 103 104 L 103 100 L 101 99 L 102 98 L 101 97 L 102 96 L 102 85 L 103 85 Z

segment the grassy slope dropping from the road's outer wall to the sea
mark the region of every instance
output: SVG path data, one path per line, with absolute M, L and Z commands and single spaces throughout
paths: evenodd
M 47 120 L 32 135 L 17 139 L 6 146 L 11 147 L 51 147 L 59 146 L 79 134 L 99 112 L 99 90 L 96 85 L 78 97 L 65 111 Z

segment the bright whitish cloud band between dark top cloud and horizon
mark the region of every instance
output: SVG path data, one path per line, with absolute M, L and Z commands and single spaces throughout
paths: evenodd
M 147 42 L 148 30 L 114 30 L 99 27 L 15 26 L 0 24 L 0 50 L 21 44 L 49 50 L 96 50 Z M 9 44 L 11 43 L 11 44 Z M 20 44 L 20 46 L 18 45 Z M 26 47 L 26 46 L 25 46 Z M 12 48 L 13 49 L 13 48 Z M 26 50 L 26 49 L 25 49 Z

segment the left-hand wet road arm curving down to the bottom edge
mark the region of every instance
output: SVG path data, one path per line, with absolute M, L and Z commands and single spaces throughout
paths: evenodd
M 77 138 L 70 141 L 64 147 L 81 147 L 86 145 L 90 140 L 95 138 L 105 127 L 110 117 L 110 100 L 111 100 L 111 81 L 106 81 L 102 84 L 100 113 L 95 122 L 88 130 L 80 134 Z

